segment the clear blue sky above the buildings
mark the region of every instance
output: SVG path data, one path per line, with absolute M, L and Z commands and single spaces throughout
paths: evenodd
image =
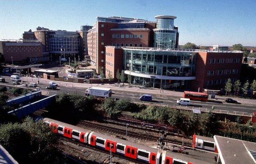
M 177 16 L 181 45 L 256 46 L 256 0 L 0 0 L 0 39 L 19 39 L 37 26 L 80 30 L 96 16 L 156 15 Z

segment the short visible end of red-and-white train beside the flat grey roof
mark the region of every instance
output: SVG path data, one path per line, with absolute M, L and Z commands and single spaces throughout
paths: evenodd
M 204 137 L 194 134 L 192 147 L 218 153 L 215 141 L 213 138 L 210 137 Z

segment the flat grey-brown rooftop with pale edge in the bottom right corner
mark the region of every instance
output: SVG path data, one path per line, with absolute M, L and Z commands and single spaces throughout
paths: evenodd
M 256 143 L 214 136 L 222 164 L 256 164 Z

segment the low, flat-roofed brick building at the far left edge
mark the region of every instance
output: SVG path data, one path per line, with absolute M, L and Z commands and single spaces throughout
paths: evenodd
M 43 57 L 42 43 L 35 40 L 0 41 L 0 53 L 9 64 L 25 63 L 30 59 Z

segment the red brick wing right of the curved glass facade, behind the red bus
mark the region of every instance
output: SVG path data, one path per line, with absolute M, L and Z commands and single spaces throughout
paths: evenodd
M 226 81 L 240 79 L 243 53 L 235 52 L 198 52 L 196 80 L 191 89 L 223 89 Z

